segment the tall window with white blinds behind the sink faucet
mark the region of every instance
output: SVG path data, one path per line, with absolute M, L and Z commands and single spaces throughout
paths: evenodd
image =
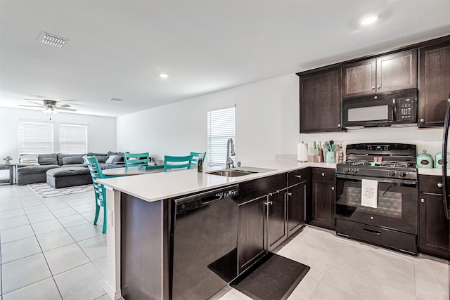
M 233 138 L 236 150 L 235 107 L 208 112 L 208 152 L 209 166 L 226 163 L 226 142 Z

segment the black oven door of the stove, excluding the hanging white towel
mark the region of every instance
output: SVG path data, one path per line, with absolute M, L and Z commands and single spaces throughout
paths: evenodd
M 376 208 L 361 204 L 363 179 L 378 182 Z M 338 174 L 336 189 L 337 219 L 417 234 L 417 181 Z

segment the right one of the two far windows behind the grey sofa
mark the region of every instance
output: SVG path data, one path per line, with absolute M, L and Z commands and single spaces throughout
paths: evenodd
M 59 150 L 61 153 L 86 153 L 87 126 L 59 124 Z

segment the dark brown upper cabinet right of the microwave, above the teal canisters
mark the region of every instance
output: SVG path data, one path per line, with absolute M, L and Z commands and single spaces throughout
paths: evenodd
M 450 93 L 450 41 L 419 49 L 418 86 L 419 127 L 443 126 Z

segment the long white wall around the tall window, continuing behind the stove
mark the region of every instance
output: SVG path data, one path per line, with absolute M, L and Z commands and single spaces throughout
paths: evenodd
M 148 151 L 159 158 L 207 150 L 207 111 L 236 104 L 236 158 L 242 162 L 295 154 L 297 143 L 416 143 L 433 157 L 442 129 L 361 129 L 300 134 L 299 77 L 285 75 L 117 118 L 117 150 Z M 320 107 L 317 107 L 320 110 Z

